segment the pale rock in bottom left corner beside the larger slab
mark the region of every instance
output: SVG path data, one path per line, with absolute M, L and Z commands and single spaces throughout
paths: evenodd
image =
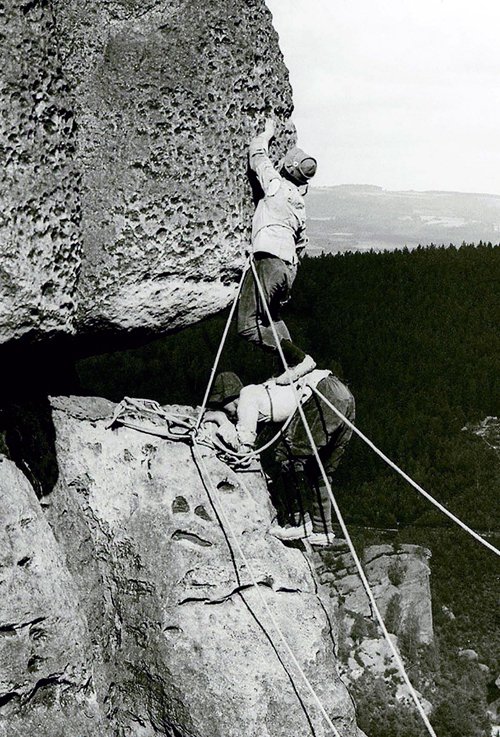
M 0 461 L 0 735 L 107 737 L 87 623 L 23 474 Z

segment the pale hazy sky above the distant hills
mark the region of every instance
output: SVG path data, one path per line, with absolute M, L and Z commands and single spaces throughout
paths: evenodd
M 266 0 L 315 184 L 500 194 L 500 0 Z

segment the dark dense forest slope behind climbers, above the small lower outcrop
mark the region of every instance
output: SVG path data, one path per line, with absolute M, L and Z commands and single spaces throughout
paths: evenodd
M 499 284 L 498 246 L 327 255 L 304 259 L 286 311 L 296 342 L 349 383 L 358 426 L 485 531 L 500 519 L 496 465 L 487 444 L 463 428 L 500 412 Z M 83 390 L 199 403 L 226 316 L 81 361 Z M 233 326 L 221 368 L 252 382 L 277 366 Z M 446 524 L 356 439 L 337 481 L 351 522 Z

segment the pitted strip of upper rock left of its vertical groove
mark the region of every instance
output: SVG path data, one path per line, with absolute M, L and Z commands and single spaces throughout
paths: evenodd
M 81 262 L 75 115 L 48 3 L 2 3 L 0 343 L 73 331 Z

